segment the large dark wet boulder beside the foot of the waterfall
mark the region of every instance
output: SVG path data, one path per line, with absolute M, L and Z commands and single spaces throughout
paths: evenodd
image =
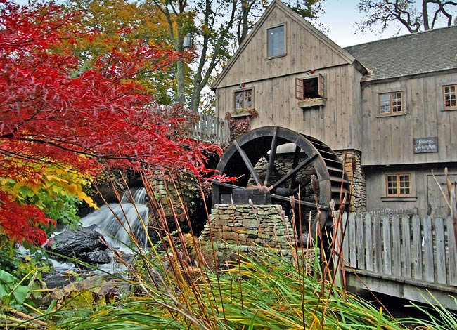
M 79 258 L 79 255 L 84 252 L 106 249 L 105 244 L 99 239 L 99 235 L 90 228 L 66 229 L 54 237 L 56 247 L 53 251 L 63 256 Z

